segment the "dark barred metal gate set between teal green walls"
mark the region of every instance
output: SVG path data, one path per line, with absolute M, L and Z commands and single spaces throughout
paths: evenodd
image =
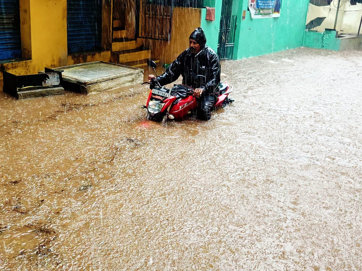
M 220 60 L 232 59 L 234 51 L 236 30 L 236 16 L 222 16 L 220 19 L 220 32 L 218 55 Z

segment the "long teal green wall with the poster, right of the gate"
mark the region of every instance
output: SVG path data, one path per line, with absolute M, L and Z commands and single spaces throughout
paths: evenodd
M 234 0 L 232 13 L 237 15 L 233 59 L 260 56 L 303 46 L 303 34 L 309 0 L 282 0 L 278 18 L 252 19 L 248 0 Z

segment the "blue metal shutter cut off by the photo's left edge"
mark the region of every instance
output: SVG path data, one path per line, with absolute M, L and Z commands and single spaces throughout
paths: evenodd
M 0 60 L 21 57 L 19 0 L 0 0 Z

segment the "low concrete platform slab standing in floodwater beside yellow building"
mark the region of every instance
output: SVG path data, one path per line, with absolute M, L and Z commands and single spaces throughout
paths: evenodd
M 64 89 L 83 94 L 143 82 L 143 69 L 103 61 L 59 67 L 54 70 L 63 70 Z

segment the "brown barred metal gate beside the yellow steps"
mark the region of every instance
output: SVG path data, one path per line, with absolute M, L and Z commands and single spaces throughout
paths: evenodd
M 171 38 L 172 11 L 163 1 L 141 0 L 139 15 L 139 38 L 167 40 Z

